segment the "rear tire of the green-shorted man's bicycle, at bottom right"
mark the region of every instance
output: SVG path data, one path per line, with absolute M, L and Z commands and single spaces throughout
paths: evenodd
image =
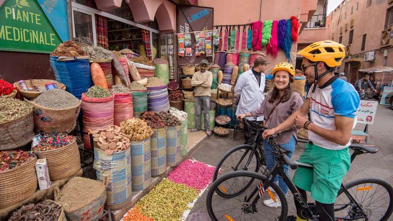
M 355 186 L 362 185 L 362 184 L 377 184 L 377 185 L 380 185 L 380 186 L 382 186 L 382 187 L 386 190 L 386 192 L 389 194 L 390 200 L 389 200 L 388 209 L 387 209 L 386 213 L 385 213 L 385 214 L 382 216 L 382 218 L 380 219 L 380 221 L 387 221 L 387 220 L 390 218 L 390 216 L 392 215 L 392 212 L 393 212 L 393 187 L 392 187 L 388 182 L 386 182 L 386 181 L 379 180 L 379 179 L 370 179 L 370 178 L 354 180 L 354 181 L 351 181 L 351 182 L 345 184 L 344 186 L 345 186 L 345 188 L 348 190 L 348 193 L 351 193 L 351 191 L 350 191 L 351 188 L 353 188 L 353 187 L 355 187 Z M 371 185 L 371 186 L 372 186 L 372 185 Z M 344 190 L 341 188 L 341 189 L 338 191 L 338 193 L 337 193 L 337 199 L 339 198 L 340 194 L 342 194 L 342 193 L 344 193 Z M 353 191 L 352 191 L 352 193 L 353 193 Z M 344 193 L 344 194 L 345 194 L 345 193 Z M 366 196 L 367 196 L 367 195 L 366 195 Z M 346 198 L 348 199 L 348 197 L 347 197 L 346 195 L 345 195 L 344 197 L 346 197 Z M 352 196 L 352 197 L 354 197 L 354 196 Z M 354 198 L 357 199 L 356 196 L 355 196 Z M 362 200 L 363 200 L 363 195 L 362 195 Z M 371 198 L 371 200 L 372 200 L 372 198 Z M 337 200 L 336 200 L 336 202 L 337 202 Z M 335 202 L 335 205 L 336 205 L 336 202 Z M 358 202 L 358 203 L 359 203 L 359 202 Z M 361 203 L 362 203 L 362 202 L 360 202 L 359 204 L 361 204 Z M 368 206 L 370 206 L 370 204 L 371 204 L 371 201 L 370 201 L 370 203 L 368 204 Z M 364 205 L 361 204 L 362 209 L 367 209 L 368 206 L 364 206 Z M 341 208 L 344 209 L 343 206 L 342 206 Z M 342 210 L 342 209 L 341 209 L 341 210 Z M 335 209 L 335 212 L 336 212 L 336 211 L 340 211 L 340 210 Z M 368 210 L 368 211 L 369 211 L 369 210 Z M 371 211 L 371 213 L 372 213 L 372 211 Z M 337 218 L 337 217 L 336 217 L 336 218 Z

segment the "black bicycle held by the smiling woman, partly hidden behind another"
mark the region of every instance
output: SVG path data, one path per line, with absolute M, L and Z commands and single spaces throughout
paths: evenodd
M 229 172 L 238 170 L 259 171 L 262 174 L 268 175 L 265 153 L 262 146 L 262 133 L 267 128 L 246 118 L 243 118 L 242 120 L 244 124 L 247 124 L 252 128 L 253 134 L 255 134 L 253 144 L 238 145 L 226 152 L 225 156 L 220 160 L 214 170 L 213 181 Z M 251 184 L 252 181 L 250 181 L 250 185 Z M 244 189 L 247 189 L 248 187 L 249 186 L 246 185 Z M 240 192 L 227 194 L 221 190 L 218 190 L 217 193 L 228 198 L 234 197 L 236 194 L 240 194 Z

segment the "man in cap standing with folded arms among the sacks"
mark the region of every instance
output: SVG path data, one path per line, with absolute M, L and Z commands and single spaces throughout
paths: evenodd
M 200 131 L 200 113 L 203 105 L 204 130 L 207 136 L 212 135 L 209 128 L 209 111 L 210 111 L 210 87 L 213 82 L 213 74 L 206 71 L 209 62 L 205 59 L 200 61 L 200 71 L 195 72 L 191 80 L 191 86 L 195 87 L 195 128 L 191 132 Z

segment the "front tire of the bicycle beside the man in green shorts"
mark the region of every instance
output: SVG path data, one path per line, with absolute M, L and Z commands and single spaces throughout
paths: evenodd
M 223 182 L 225 182 L 226 180 L 229 180 L 231 178 L 234 178 L 234 177 L 251 177 L 252 180 L 256 179 L 262 183 L 268 180 L 268 178 L 266 176 L 264 176 L 260 173 L 245 171 L 245 170 L 230 172 L 230 173 L 227 173 L 224 176 L 220 177 L 218 180 L 216 180 L 212 184 L 212 186 L 210 187 L 210 189 L 207 193 L 207 197 L 206 197 L 206 209 L 207 209 L 209 217 L 212 221 L 218 221 L 218 219 L 213 211 L 212 198 L 213 198 L 213 196 L 215 196 L 215 193 L 217 193 L 217 190 L 220 189 L 219 186 L 221 186 L 221 184 Z M 287 214 L 288 214 L 288 203 L 286 201 L 286 197 L 285 197 L 284 193 L 282 193 L 280 187 L 277 184 L 275 184 L 274 182 L 270 185 L 270 188 L 272 188 L 276 192 L 277 196 L 279 197 L 279 199 L 281 201 L 281 214 L 278 217 L 274 217 L 274 220 L 278 219 L 279 221 L 285 221 Z M 262 200 L 262 198 L 260 198 L 259 200 Z M 263 204 L 263 202 L 257 202 L 257 204 Z M 272 208 L 266 207 L 265 205 L 262 205 L 262 207 L 268 211 L 272 210 Z M 240 211 L 240 213 L 243 213 L 243 212 Z M 266 219 L 263 219 L 263 220 L 266 220 Z

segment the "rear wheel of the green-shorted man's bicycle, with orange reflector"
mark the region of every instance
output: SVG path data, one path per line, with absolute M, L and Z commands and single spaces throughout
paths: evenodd
M 362 218 L 362 210 L 369 221 L 386 221 L 392 215 L 393 188 L 387 182 L 377 179 L 360 179 L 346 184 L 345 188 L 361 208 L 356 206 L 341 188 L 335 202 L 336 218 L 365 220 Z

